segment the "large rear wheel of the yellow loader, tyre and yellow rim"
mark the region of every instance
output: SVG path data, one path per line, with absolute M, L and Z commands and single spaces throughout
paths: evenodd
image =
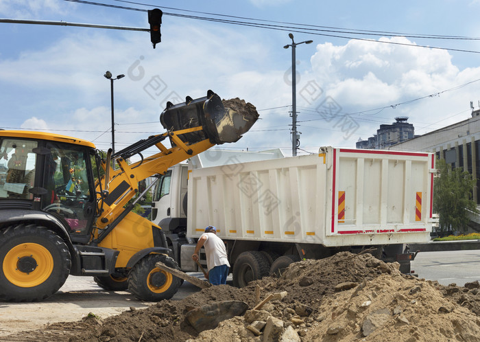
M 67 244 L 53 231 L 16 225 L 0 233 L 0 299 L 40 301 L 56 293 L 70 273 Z

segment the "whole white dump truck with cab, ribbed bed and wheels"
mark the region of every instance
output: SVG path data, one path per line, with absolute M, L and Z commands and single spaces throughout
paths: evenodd
M 182 271 L 197 271 L 195 242 L 205 227 L 217 227 L 235 286 L 304 258 L 372 247 L 410 273 L 416 253 L 403 247 L 430 240 L 434 174 L 435 156 L 425 152 L 210 150 L 158 182 L 152 220 Z

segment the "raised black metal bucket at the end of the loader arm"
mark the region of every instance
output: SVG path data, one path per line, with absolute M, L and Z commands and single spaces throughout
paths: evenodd
M 167 108 L 160 114 L 163 128 L 169 131 L 202 126 L 202 130 L 180 136 L 185 144 L 204 139 L 210 139 L 212 144 L 235 142 L 250 130 L 258 118 L 256 111 L 225 109 L 219 96 L 211 90 L 204 98 L 193 100 L 187 96 L 180 104 L 167 102 Z

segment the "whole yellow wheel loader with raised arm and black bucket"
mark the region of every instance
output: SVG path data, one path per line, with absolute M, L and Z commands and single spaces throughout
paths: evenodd
M 165 133 L 106 156 L 82 139 L 0 130 L 0 300 L 43 300 L 69 275 L 93 276 L 102 288 L 128 288 L 145 301 L 171 298 L 180 279 L 155 264 L 179 267 L 163 230 L 132 212 L 154 185 L 139 194 L 139 182 L 237 141 L 257 118 L 225 109 L 208 91 L 168 102 L 160 114 Z M 143 157 L 147 148 L 158 152 Z M 128 163 L 133 156 L 140 160 Z

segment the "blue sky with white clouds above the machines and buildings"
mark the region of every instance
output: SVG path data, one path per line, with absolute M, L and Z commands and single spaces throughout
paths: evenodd
M 480 41 L 444 36 L 479 38 L 480 1 L 93 2 L 162 9 L 162 43 L 153 49 L 147 32 L 0 23 L 0 128 L 80 137 L 106 150 L 110 81 L 103 75 L 109 70 L 125 74 L 115 81 L 116 150 L 163 133 L 158 117 L 167 100 L 212 89 L 251 102 L 261 115 L 241 140 L 223 148 L 283 148 L 288 155 L 291 49 L 283 46 L 291 43 L 289 32 L 296 43 L 313 40 L 296 48 L 305 151 L 355 147 L 398 116 L 424 134 L 467 119 L 470 101 L 479 106 Z M 276 30 L 169 14 L 261 19 L 256 23 Z M 64 0 L 1 0 L 0 18 L 148 27 L 146 12 Z

